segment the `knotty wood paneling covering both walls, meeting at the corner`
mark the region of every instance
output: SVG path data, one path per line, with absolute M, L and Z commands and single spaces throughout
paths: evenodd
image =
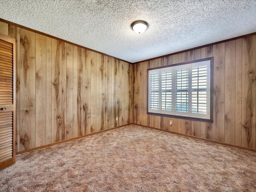
M 256 148 L 256 35 L 132 65 L 4 22 L 0 32 L 16 38 L 17 151 L 129 123 Z M 146 114 L 148 68 L 212 56 L 213 123 Z

